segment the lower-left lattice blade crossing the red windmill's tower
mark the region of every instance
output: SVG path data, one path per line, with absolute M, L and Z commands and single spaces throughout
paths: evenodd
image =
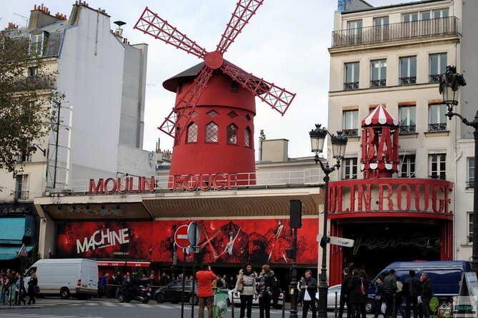
M 201 68 L 199 75 L 196 76 L 189 90 L 184 93 L 184 96 L 176 103 L 169 116 L 158 127 L 163 133 L 173 137 L 175 144 L 179 143 L 181 135 L 184 133 L 184 128 L 191 119 L 196 103 L 199 97 L 201 97 L 203 88 L 207 85 L 209 78 L 211 78 L 212 71 L 207 66 Z

